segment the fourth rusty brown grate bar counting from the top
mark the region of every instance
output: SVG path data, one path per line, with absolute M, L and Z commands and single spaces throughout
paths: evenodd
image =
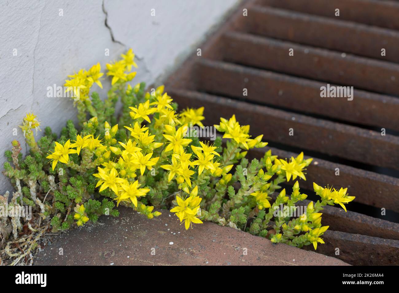
M 318 115 L 322 113 L 338 120 L 399 130 L 399 124 L 395 121 L 399 113 L 399 99 L 391 96 L 354 90 L 352 101 L 320 98 L 320 87 L 326 84 L 208 59 L 196 63 L 196 76 L 199 91 L 242 99 L 243 88 L 247 88 L 245 100 L 249 102 Z

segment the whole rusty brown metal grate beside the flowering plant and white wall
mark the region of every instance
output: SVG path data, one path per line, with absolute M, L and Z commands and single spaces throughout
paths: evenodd
M 350 187 L 357 204 L 324 210 L 318 247 L 350 264 L 399 264 L 398 14 L 384 0 L 245 1 L 166 83 L 181 108 L 205 106 L 207 125 L 236 114 L 273 153 L 312 155 L 302 188 Z M 321 98 L 327 83 L 353 86 L 354 99 Z

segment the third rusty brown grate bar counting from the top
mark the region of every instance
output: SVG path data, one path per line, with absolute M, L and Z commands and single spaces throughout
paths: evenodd
M 247 33 L 223 35 L 224 60 L 384 94 L 398 94 L 399 65 Z M 289 50 L 294 55 L 289 56 Z M 241 52 L 246 52 L 242 54 Z M 345 56 L 345 57 L 342 57 Z M 320 92 L 318 94 L 320 96 Z

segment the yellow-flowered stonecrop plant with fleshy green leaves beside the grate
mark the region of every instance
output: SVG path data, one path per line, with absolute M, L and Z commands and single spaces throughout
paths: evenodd
M 186 229 L 212 221 L 275 243 L 313 244 L 315 249 L 324 243 L 321 236 L 328 226 L 322 226 L 320 211 L 334 204 L 346 210 L 345 204 L 354 199 L 346 188 L 314 183 L 320 200 L 310 202 L 306 212 L 297 217 L 276 212 L 306 199 L 299 181 L 290 195 L 280 190 L 280 184 L 306 180 L 304 171 L 312 159 L 304 159 L 303 153 L 279 158 L 268 150 L 249 162 L 249 149 L 265 148 L 267 143 L 262 135 L 251 137 L 249 125 L 239 124 L 234 115 L 220 118 L 214 126 L 223 136 L 214 141 L 199 138 L 188 129 L 203 127 L 204 108 L 179 112 L 164 86 L 150 92 L 144 83 L 132 87 L 134 67 L 131 49 L 107 64 L 106 75 L 112 80 L 105 100 L 92 90 L 102 88 L 99 63 L 70 75 L 65 87 L 77 107 L 79 126 L 67 121 L 60 136 L 46 127 L 36 141 L 34 131 L 40 130 L 40 122 L 32 113 L 24 118 L 20 128 L 30 153 L 23 158 L 20 143 L 13 141 L 12 150 L 5 153 L 3 173 L 16 189 L 10 205 L 32 206 L 33 220 L 1 218 L 0 240 L 9 256 L 29 255 L 36 243 L 26 236 L 29 230 L 43 234 L 50 226 L 56 232 L 97 222 L 103 215 L 118 216 L 118 206 L 149 219 L 169 209 Z M 118 101 L 122 110 L 116 115 Z M 7 202 L 8 194 L 0 204 Z M 20 243 L 29 250 L 24 254 L 6 241 L 11 233 L 17 240 L 21 231 L 25 242 Z

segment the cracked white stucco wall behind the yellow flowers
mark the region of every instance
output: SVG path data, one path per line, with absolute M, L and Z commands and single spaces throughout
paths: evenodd
M 238 2 L 0 0 L 0 169 L 10 142 L 24 140 L 13 129 L 27 112 L 38 115 L 42 129 L 56 132 L 75 119 L 71 100 L 47 98 L 48 86 L 62 86 L 68 74 L 97 62 L 104 69 L 129 47 L 139 66 L 134 83 L 162 81 Z M 7 189 L 1 174 L 0 193 Z

